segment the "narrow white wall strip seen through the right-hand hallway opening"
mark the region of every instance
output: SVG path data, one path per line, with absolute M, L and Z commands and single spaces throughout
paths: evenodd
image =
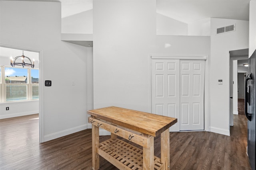
M 238 80 L 237 80 L 237 60 L 233 61 L 233 114 L 238 115 Z

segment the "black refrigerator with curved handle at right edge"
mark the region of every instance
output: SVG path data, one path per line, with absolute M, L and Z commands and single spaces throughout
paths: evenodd
M 252 170 L 255 170 L 255 133 L 256 133 L 256 51 L 248 59 L 248 75 L 245 80 L 244 112 L 248 119 L 248 157 Z

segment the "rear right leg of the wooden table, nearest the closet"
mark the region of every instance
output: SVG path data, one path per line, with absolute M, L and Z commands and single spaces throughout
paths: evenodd
M 161 133 L 161 163 L 165 163 L 165 170 L 170 170 L 170 132 L 169 132 L 169 128 Z

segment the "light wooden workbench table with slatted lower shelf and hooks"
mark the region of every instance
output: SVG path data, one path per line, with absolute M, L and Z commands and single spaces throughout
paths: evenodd
M 120 170 L 170 170 L 169 127 L 176 118 L 120 107 L 89 110 L 92 123 L 92 169 L 100 168 L 99 155 Z M 99 143 L 99 127 L 111 132 L 111 139 Z M 154 137 L 161 135 L 161 158 L 154 156 Z M 120 136 L 143 147 L 138 149 Z

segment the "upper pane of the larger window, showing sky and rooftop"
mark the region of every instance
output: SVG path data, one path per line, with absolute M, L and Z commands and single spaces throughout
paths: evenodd
M 27 83 L 28 82 L 28 69 L 27 68 L 9 68 L 4 70 L 5 83 Z

